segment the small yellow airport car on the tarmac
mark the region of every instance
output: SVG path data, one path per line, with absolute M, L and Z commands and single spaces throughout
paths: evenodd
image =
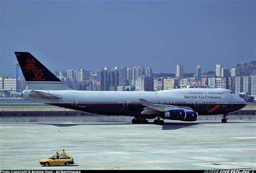
M 65 151 L 63 150 L 62 153 L 58 154 L 56 152 L 55 155 L 42 159 L 39 161 L 40 164 L 45 165 L 45 167 L 48 167 L 49 165 L 66 165 L 69 166 L 70 164 L 74 164 L 73 157 L 67 155 Z

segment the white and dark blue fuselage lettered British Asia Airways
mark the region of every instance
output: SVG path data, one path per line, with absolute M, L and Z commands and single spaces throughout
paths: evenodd
M 41 91 L 61 99 L 34 98 L 30 90 L 23 91 L 27 100 L 43 102 L 83 112 L 103 115 L 139 116 L 144 106 L 139 99 L 154 104 L 190 107 L 199 115 L 234 112 L 246 102 L 228 89 L 185 88 L 163 91 Z

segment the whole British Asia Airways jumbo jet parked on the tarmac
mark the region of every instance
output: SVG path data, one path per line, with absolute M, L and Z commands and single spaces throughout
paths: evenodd
M 134 116 L 132 123 L 164 124 L 164 120 L 196 121 L 198 115 L 228 113 L 247 105 L 229 89 L 181 88 L 163 91 L 76 91 L 66 86 L 29 52 L 15 52 L 28 89 L 25 100 L 91 114 Z

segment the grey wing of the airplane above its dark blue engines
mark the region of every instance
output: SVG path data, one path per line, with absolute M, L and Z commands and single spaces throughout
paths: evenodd
M 144 108 L 142 114 L 156 114 L 156 113 L 159 113 L 159 112 L 167 112 L 169 110 L 177 110 L 177 109 L 183 109 L 187 112 L 193 111 L 193 109 L 191 109 L 190 107 L 179 107 L 179 106 L 152 104 L 151 102 L 149 102 L 145 99 L 139 99 L 139 101 L 142 103 L 143 106 L 146 106 L 146 108 Z

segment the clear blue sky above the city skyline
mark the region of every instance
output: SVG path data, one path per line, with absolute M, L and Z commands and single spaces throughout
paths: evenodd
M 253 0 L 0 0 L 0 76 L 14 52 L 49 70 L 144 66 L 153 73 L 215 71 L 256 59 Z M 104 65 L 103 65 L 104 66 Z

